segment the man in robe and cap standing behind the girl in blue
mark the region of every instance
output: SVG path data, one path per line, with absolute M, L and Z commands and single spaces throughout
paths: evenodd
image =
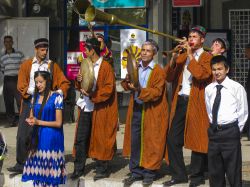
M 22 96 L 22 106 L 19 117 L 16 142 L 16 164 L 8 168 L 10 172 L 22 173 L 24 163 L 28 156 L 28 146 L 32 134 L 32 127 L 25 121 L 30 114 L 31 98 L 35 91 L 34 73 L 36 71 L 49 71 L 53 78 L 52 89 L 66 97 L 69 81 L 65 78 L 60 67 L 47 58 L 49 41 L 39 38 L 34 41 L 35 56 L 25 60 L 18 72 L 17 89 Z

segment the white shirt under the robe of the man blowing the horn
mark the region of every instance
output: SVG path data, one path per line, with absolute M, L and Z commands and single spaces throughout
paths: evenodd
M 201 54 L 203 53 L 203 51 L 204 51 L 204 49 L 200 48 L 193 53 L 193 56 L 197 62 L 198 62 Z M 178 95 L 189 95 L 190 94 L 193 76 L 190 73 L 190 71 L 187 69 L 189 63 L 190 63 L 190 59 L 189 59 L 189 57 L 187 57 L 186 63 L 184 65 L 184 71 L 183 71 L 183 77 L 182 77 L 182 88 L 179 91 Z

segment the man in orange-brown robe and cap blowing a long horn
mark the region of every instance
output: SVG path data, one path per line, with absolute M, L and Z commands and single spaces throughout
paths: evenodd
M 188 182 L 182 148 L 192 150 L 190 187 L 205 183 L 204 170 L 208 150 L 204 90 L 212 80 L 211 55 L 204 51 L 206 29 L 193 27 L 188 40 L 178 47 L 185 52 L 173 53 L 167 64 L 166 79 L 172 83 L 173 100 L 167 136 L 169 167 L 172 179 L 164 186 Z

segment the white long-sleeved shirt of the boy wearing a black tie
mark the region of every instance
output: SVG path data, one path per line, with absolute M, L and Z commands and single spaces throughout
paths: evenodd
M 217 92 L 216 85 L 218 83 L 215 81 L 205 88 L 206 108 L 211 124 L 213 121 L 212 108 Z M 221 89 L 221 102 L 218 110 L 218 124 L 223 125 L 238 120 L 239 129 L 242 131 L 248 117 L 246 91 L 241 84 L 228 77 L 225 78 L 221 85 L 223 87 Z

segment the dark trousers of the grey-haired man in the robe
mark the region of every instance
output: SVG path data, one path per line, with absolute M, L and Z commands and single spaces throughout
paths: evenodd
M 134 104 L 133 118 L 131 124 L 131 156 L 129 169 L 134 177 L 154 179 L 156 172 L 140 166 L 141 160 L 141 126 L 142 126 L 142 105 Z

